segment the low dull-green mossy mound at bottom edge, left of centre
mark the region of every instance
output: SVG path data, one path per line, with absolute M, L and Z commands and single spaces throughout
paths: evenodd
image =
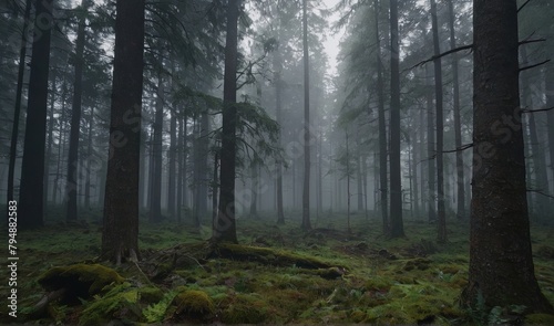
M 225 324 L 259 324 L 267 318 L 266 303 L 246 295 L 232 297 L 220 314 L 220 319 Z

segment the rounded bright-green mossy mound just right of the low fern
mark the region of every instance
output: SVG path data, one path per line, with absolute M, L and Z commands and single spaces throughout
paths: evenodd
M 179 290 L 182 290 L 182 286 L 179 286 Z M 184 290 L 173 298 L 166 313 L 166 319 L 203 323 L 211 320 L 214 314 L 214 302 L 205 292 Z

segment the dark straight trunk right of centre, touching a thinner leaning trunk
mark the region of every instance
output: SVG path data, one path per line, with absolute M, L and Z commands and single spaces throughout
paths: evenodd
M 390 1 L 390 236 L 404 236 L 400 167 L 400 48 L 398 0 Z

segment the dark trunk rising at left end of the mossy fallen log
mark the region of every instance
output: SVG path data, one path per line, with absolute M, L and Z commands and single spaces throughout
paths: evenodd
M 223 128 L 219 208 L 213 228 L 215 242 L 237 243 L 235 221 L 235 167 L 236 167 L 236 120 L 237 120 L 237 40 L 240 0 L 227 4 L 227 35 L 225 40 L 225 73 L 223 86 Z

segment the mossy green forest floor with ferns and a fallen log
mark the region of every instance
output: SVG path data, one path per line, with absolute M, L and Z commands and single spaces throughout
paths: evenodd
M 121 266 L 100 262 L 109 270 L 93 264 L 101 244 L 101 224 L 93 215 L 18 234 L 18 318 L 9 317 L 3 304 L 0 323 L 554 325 L 550 315 L 517 319 L 517 306 L 460 306 L 468 280 L 466 221 L 449 219 L 449 242 L 438 244 L 435 225 L 410 217 L 407 236 L 396 240 L 382 235 L 377 218 L 362 215 L 352 217 L 351 233 L 341 214 L 312 219 L 308 233 L 300 230 L 299 218 L 289 217 L 285 225 L 276 225 L 273 217 L 239 219 L 242 246 L 216 252 L 206 251 L 208 227 L 192 232 L 186 224 L 143 222 L 142 260 Z M 554 227 L 532 227 L 535 274 L 552 303 L 553 235 Z M 68 293 L 57 297 L 57 286 L 70 281 L 52 285 L 44 281 L 52 274 L 44 273 L 71 265 L 98 276 L 71 281 L 95 280 L 74 294 L 78 298 Z M 122 277 L 110 278 L 111 269 Z M 4 273 L 8 278 L 9 271 Z M 11 287 L 2 282 L 0 288 L 9 294 Z M 45 297 L 51 301 L 41 306 Z

